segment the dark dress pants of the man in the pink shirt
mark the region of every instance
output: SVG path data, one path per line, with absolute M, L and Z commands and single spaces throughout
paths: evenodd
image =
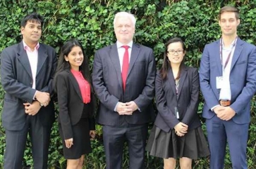
M 26 115 L 26 123 L 21 130 L 6 130 L 6 150 L 4 152 L 4 169 L 23 168 L 25 144 L 30 135 L 32 157 L 35 169 L 47 169 L 49 139 L 51 126 L 42 126 L 38 114 Z

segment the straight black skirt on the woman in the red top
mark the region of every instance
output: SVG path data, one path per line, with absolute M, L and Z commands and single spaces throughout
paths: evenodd
M 83 154 L 92 152 L 90 143 L 90 129 L 87 118 L 81 118 L 80 121 L 72 126 L 73 131 L 73 145 L 67 148 L 63 137 L 61 124 L 59 123 L 59 133 L 63 144 L 63 155 L 66 159 L 78 159 Z

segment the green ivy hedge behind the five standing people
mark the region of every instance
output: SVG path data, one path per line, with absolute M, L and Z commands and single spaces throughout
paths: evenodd
M 219 8 L 231 4 L 240 9 L 238 35 L 241 39 L 256 42 L 256 1 L 236 0 L 1 0 L 0 1 L 0 51 L 21 41 L 20 20 L 28 13 L 37 11 L 44 16 L 45 25 L 42 42 L 59 50 L 63 42 L 76 38 L 83 43 L 85 53 L 90 58 L 91 67 L 95 50 L 116 41 L 114 36 L 114 14 L 128 11 L 135 14 L 136 43 L 142 43 L 154 49 L 158 67 L 161 65 L 164 43 L 173 36 L 180 36 L 188 47 L 186 63 L 199 67 L 202 50 L 206 43 L 219 39 Z M 4 90 L 0 86 L 0 114 L 3 105 Z M 202 113 L 202 100 L 198 114 Z M 256 168 L 256 97 L 253 98 L 252 119 L 248 139 L 248 168 Z M 56 116 L 58 109 L 56 107 Z M 1 122 L 0 122 L 1 125 Z M 202 128 L 205 130 L 204 119 Z M 150 132 L 150 128 L 149 128 Z M 207 134 L 207 133 L 205 133 Z M 0 168 L 3 168 L 5 136 L 0 128 Z M 85 168 L 102 169 L 105 167 L 105 155 L 102 144 L 101 126 L 97 126 L 97 137 L 92 140 L 93 152 L 85 159 Z M 228 152 L 228 148 L 227 148 Z M 146 168 L 163 168 L 161 158 L 146 154 Z M 30 142 L 25 150 L 24 166 L 30 168 L 32 155 Z M 62 156 L 62 144 L 56 123 L 51 133 L 49 148 L 49 168 L 66 168 Z M 128 151 L 123 154 L 123 168 L 128 168 Z M 209 158 L 193 161 L 193 168 L 209 168 Z M 231 160 L 226 155 L 225 168 L 231 168 Z

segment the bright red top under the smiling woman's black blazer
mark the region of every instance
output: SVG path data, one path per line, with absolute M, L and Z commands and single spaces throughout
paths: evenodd
M 90 84 L 85 80 L 81 72 L 71 69 L 71 73 L 75 76 L 76 81 L 78 81 L 78 86 L 83 97 L 83 102 L 85 104 L 89 103 L 91 101 Z

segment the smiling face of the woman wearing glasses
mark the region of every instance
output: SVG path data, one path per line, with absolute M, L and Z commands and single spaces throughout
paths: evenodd
M 167 57 L 171 65 L 181 65 L 185 55 L 185 50 L 181 42 L 173 42 L 167 46 Z

